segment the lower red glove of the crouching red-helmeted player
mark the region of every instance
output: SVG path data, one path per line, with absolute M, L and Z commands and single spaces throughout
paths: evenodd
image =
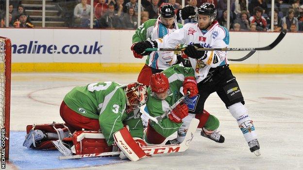
M 187 105 L 181 103 L 176 106 L 169 114 L 168 119 L 174 123 L 181 123 L 182 119 L 188 115 L 188 108 Z

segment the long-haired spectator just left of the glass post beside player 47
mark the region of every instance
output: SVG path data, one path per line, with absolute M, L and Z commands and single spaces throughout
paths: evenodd
M 132 7 L 127 10 L 127 14 L 121 20 L 125 29 L 136 29 L 138 27 L 138 17 L 135 15 L 135 9 Z

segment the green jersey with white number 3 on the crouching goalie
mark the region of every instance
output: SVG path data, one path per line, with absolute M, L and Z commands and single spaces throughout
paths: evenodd
M 126 113 L 125 85 L 116 82 L 97 82 L 73 88 L 64 97 L 68 108 L 82 116 L 97 119 L 107 144 L 114 143 L 113 134 L 129 126 L 133 137 L 143 138 L 143 125 L 139 114 Z

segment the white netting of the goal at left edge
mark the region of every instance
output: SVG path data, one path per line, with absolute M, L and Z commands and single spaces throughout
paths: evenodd
M 5 40 L 0 38 L 0 128 L 4 127 L 4 107 L 5 107 Z

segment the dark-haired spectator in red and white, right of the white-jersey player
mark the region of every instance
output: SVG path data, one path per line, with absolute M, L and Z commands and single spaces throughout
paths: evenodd
M 263 14 L 263 9 L 259 6 L 255 7 L 253 9 L 254 15 L 250 17 L 250 22 L 256 24 L 256 29 L 257 31 L 266 31 L 267 30 L 267 21 L 266 19 L 262 16 Z

